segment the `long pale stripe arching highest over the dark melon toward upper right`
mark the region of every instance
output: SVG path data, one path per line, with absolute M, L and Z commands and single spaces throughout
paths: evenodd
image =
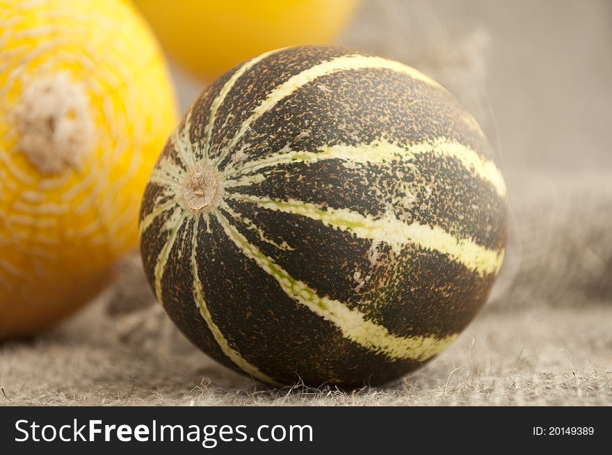
M 220 157 L 216 163 L 218 164 L 223 161 L 227 152 L 232 150 L 245 132 L 250 129 L 252 122 L 255 122 L 255 120 L 260 118 L 261 115 L 264 115 L 266 111 L 272 109 L 273 106 L 275 106 L 282 99 L 288 97 L 292 93 L 295 93 L 307 83 L 314 81 L 314 79 L 317 79 L 318 77 L 327 76 L 328 74 L 334 74 L 340 71 L 364 70 L 366 68 L 392 70 L 394 72 L 412 77 L 412 79 L 423 81 L 430 86 L 442 88 L 439 83 L 433 79 L 430 79 L 430 77 L 427 77 L 420 71 L 417 71 L 408 65 L 404 65 L 403 63 L 387 60 L 387 58 L 363 56 L 360 54 L 350 54 L 332 58 L 332 60 L 324 61 L 323 63 L 319 63 L 319 65 L 309 67 L 307 70 L 290 77 L 287 79 L 287 81 L 276 86 L 270 93 L 268 93 L 266 99 L 264 99 L 264 101 L 252 111 L 251 115 L 242 123 L 240 129 L 236 131 L 230 145 L 225 150 L 225 154 L 223 154 L 223 156 Z

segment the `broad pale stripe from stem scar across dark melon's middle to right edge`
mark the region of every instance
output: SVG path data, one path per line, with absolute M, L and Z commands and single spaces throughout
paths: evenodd
M 349 209 L 332 209 L 300 200 L 272 200 L 245 194 L 232 194 L 228 197 L 252 202 L 258 207 L 284 213 L 306 216 L 321 221 L 326 226 L 351 232 L 360 239 L 384 242 L 399 253 L 403 246 L 415 244 L 426 250 L 449 255 L 472 271 L 483 275 L 497 273 L 504 260 L 504 252 L 497 252 L 476 244 L 472 239 L 460 239 L 449 234 L 441 227 L 405 223 L 387 211 L 381 218 L 362 215 Z

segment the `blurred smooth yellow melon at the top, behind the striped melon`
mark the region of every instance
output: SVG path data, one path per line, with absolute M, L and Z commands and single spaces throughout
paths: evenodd
M 357 0 L 135 0 L 177 63 L 207 81 L 263 51 L 325 44 Z

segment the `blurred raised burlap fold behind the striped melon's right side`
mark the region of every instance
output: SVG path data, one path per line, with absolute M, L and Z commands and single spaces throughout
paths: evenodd
M 510 240 L 490 305 L 610 305 L 610 173 L 507 175 Z

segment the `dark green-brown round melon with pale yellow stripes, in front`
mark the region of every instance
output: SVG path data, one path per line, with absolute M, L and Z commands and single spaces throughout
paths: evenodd
M 485 303 L 506 186 L 480 127 L 411 67 L 293 47 L 193 103 L 140 214 L 148 280 L 219 362 L 274 385 L 398 378 Z

